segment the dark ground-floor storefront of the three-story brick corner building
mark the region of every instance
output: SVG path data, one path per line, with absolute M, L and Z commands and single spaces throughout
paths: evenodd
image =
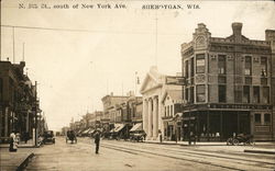
M 268 105 L 211 104 L 207 107 L 194 105 L 185 110 L 184 140 L 188 140 L 190 134 L 195 135 L 199 141 L 223 141 L 238 134 L 251 134 L 256 140 L 272 138 L 271 106 Z M 258 110 L 263 112 L 256 112 Z

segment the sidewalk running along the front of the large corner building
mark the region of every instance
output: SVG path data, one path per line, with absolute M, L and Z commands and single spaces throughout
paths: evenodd
M 175 146 L 184 146 L 184 147 L 196 147 L 201 148 L 204 150 L 224 150 L 224 151 L 239 151 L 239 152 L 252 152 L 252 153 L 266 153 L 266 155 L 275 155 L 275 141 L 268 142 L 255 142 L 254 146 L 227 146 L 226 141 L 196 141 L 196 145 L 189 145 L 188 141 L 166 141 L 164 140 L 162 144 L 160 140 L 145 140 L 146 144 L 158 144 L 158 145 L 175 145 Z

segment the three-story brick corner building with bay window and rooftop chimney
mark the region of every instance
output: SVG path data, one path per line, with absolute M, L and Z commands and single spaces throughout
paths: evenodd
M 275 140 L 275 31 L 266 30 L 265 41 L 242 35 L 242 23 L 232 23 L 232 31 L 229 37 L 211 37 L 201 23 L 182 45 L 185 140 L 190 134 L 200 141 L 234 134 Z

